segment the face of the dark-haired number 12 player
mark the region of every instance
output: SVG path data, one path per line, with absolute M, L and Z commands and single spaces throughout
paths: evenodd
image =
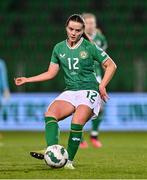
M 69 42 L 76 43 L 84 32 L 83 24 L 75 21 L 69 21 L 66 31 Z

